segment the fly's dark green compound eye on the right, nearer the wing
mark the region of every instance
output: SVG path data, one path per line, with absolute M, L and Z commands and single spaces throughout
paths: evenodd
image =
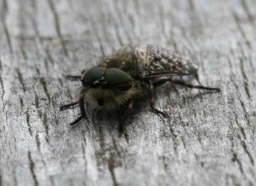
M 131 81 L 131 77 L 123 70 L 110 68 L 105 72 L 105 80 L 112 85 L 118 85 L 129 83 Z

